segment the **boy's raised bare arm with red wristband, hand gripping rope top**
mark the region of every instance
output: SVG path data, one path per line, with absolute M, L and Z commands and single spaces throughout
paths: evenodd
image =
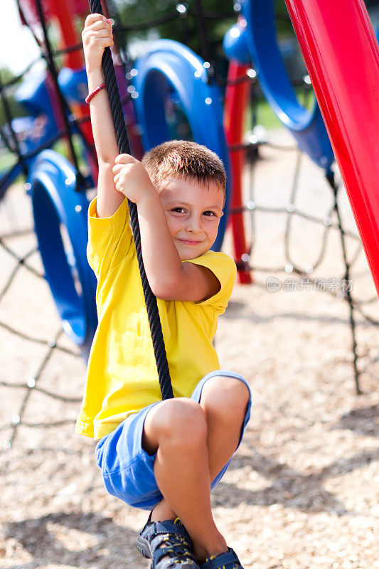
M 110 20 L 101 14 L 90 14 L 85 20 L 82 42 L 87 70 L 88 92 L 105 82 L 102 54 L 113 45 Z M 97 215 L 109 217 L 117 210 L 124 196 L 114 187 L 112 166 L 119 154 L 114 134 L 110 103 L 106 90 L 101 90 L 90 101 L 92 132 L 99 161 L 97 182 Z

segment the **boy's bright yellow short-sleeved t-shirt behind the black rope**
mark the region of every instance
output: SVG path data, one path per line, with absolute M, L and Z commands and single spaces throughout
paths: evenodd
M 131 413 L 161 400 L 161 391 L 127 200 L 110 218 L 97 218 L 95 198 L 88 225 L 99 324 L 75 431 L 100 439 Z M 203 376 L 220 368 L 212 340 L 235 282 L 235 262 L 224 253 L 208 251 L 190 262 L 208 267 L 220 290 L 203 302 L 158 299 L 175 397 L 190 397 Z

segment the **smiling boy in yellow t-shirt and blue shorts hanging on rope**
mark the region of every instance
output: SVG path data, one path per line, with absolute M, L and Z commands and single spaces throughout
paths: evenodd
M 110 494 L 151 511 L 137 539 L 153 569 L 240 568 L 213 521 L 210 488 L 228 467 L 250 417 L 250 390 L 220 371 L 212 340 L 235 264 L 211 252 L 225 201 L 218 156 L 171 141 L 142 163 L 118 155 L 101 60 L 111 21 L 82 32 L 99 159 L 89 209 L 88 259 L 97 275 L 99 325 L 76 431 L 99 440 Z M 161 401 L 127 196 L 137 204 L 146 276 L 158 298 L 174 399 Z

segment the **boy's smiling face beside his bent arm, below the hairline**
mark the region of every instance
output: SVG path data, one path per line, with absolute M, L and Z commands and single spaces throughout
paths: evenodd
M 216 184 L 208 188 L 196 180 L 168 178 L 159 197 L 181 260 L 196 259 L 207 252 L 223 216 L 223 191 Z

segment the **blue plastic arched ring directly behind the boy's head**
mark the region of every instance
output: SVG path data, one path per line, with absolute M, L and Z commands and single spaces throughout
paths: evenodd
M 191 127 L 193 141 L 203 144 L 223 161 L 227 172 L 225 213 L 221 218 L 213 249 L 219 250 L 227 224 L 231 180 L 228 150 L 223 130 L 223 107 L 218 85 L 208 78 L 203 60 L 192 50 L 173 40 L 150 44 L 136 62 L 133 85 L 137 119 L 142 127 L 144 151 L 170 140 L 165 116 L 165 100 L 173 90 Z

